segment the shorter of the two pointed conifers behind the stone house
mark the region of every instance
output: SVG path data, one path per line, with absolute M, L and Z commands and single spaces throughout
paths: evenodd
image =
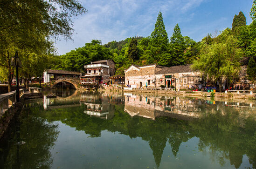
M 179 24 L 177 24 L 173 29 L 173 36 L 170 41 L 170 53 L 172 55 L 171 65 L 183 65 L 186 60 L 184 57 L 185 41 L 181 35 Z

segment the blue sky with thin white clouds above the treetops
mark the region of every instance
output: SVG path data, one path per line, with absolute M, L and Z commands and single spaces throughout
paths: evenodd
M 242 11 L 247 25 L 253 0 L 80 0 L 88 12 L 73 18 L 73 40 L 55 41 L 58 54 L 83 47 L 93 39 L 106 44 L 128 37 L 150 36 L 161 11 L 168 38 L 178 23 L 183 36 L 201 41 L 232 27 Z

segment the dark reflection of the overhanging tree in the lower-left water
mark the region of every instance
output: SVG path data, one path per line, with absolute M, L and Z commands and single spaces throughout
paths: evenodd
M 5 168 L 49 169 L 53 162 L 50 149 L 58 136 L 58 125 L 42 117 L 23 117 L 19 131 L 8 146 Z M 24 144 L 23 144 L 24 143 Z

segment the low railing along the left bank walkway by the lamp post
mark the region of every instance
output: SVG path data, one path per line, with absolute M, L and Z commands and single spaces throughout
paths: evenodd
M 20 97 L 25 93 L 41 93 L 42 88 L 21 88 Z M 0 95 L 0 115 L 2 115 L 8 108 L 12 107 L 16 102 L 16 90 Z

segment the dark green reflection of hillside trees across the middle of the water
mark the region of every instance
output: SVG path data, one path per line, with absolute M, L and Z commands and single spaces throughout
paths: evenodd
M 113 106 L 113 105 L 112 105 Z M 124 105 L 115 105 L 112 109 L 115 114 L 112 119 L 104 120 L 90 117 L 83 113 L 83 104 L 76 108 L 37 110 L 38 115 L 49 122 L 61 121 L 82 130 L 91 137 L 100 137 L 101 131 L 118 132 L 131 138 L 141 137 L 149 142 L 155 163 L 159 167 L 166 142 L 172 148 L 173 155 L 177 155 L 182 142 L 190 138 L 200 138 L 198 149 L 206 151 L 210 149 L 213 160 L 223 166 L 225 159 L 229 159 L 231 165 L 240 167 L 243 155 L 249 157 L 249 162 L 256 168 L 256 121 L 255 118 L 242 117 L 235 108 L 219 105 L 215 110 L 213 105 L 204 109 L 200 119 L 183 121 L 167 117 L 159 117 L 156 120 L 141 116 L 131 117 L 124 112 Z M 34 111 L 33 111 L 34 112 Z M 205 113 L 207 112 L 207 113 Z

